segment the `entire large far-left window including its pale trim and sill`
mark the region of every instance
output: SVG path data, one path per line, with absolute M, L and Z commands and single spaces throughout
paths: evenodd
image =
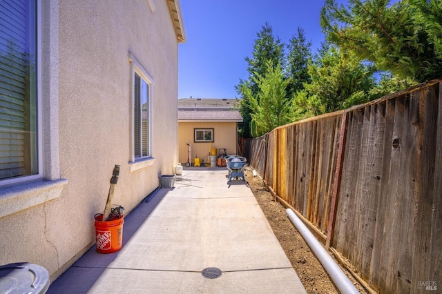
M 58 10 L 41 21 L 52 2 L 0 0 L 0 217 L 57 199 L 68 184 L 59 170 Z

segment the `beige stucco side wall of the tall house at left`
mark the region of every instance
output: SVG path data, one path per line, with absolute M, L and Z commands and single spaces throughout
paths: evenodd
M 121 170 L 113 203 L 126 211 L 159 185 L 158 175 L 173 173 L 177 38 L 166 0 L 155 1 L 153 12 L 146 0 L 42 2 L 44 63 L 57 59 L 56 69 L 43 72 L 43 92 L 58 93 L 58 126 L 51 126 L 59 136 L 58 148 L 50 149 L 51 131 L 44 130 L 44 152 L 58 153 L 52 170 L 68 184 L 55 201 L 0 218 L 0 264 L 40 264 L 53 279 L 94 244 L 93 215 L 104 209 L 115 164 Z M 50 32 L 57 32 L 55 46 Z M 133 172 L 130 53 L 154 82 L 155 161 Z

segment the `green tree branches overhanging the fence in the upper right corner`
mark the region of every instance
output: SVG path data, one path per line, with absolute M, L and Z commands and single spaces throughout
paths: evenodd
M 327 39 L 359 60 L 402 79 L 442 77 L 441 0 L 326 0 L 320 24 Z

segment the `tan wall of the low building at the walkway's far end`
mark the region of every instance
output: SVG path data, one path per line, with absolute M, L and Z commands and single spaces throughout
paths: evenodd
M 194 142 L 194 128 L 213 128 L 214 142 L 210 143 L 195 143 Z M 210 148 L 217 149 L 217 155 L 220 148 L 227 149 L 227 155 L 236 155 L 237 146 L 237 123 L 236 122 L 179 122 L 178 123 L 178 162 L 184 163 L 187 161 L 187 143 L 192 144 L 192 164 L 195 157 L 204 159 L 204 163 L 209 163 Z

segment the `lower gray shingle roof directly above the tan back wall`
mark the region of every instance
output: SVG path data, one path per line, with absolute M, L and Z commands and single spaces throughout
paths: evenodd
M 242 122 L 238 110 L 178 110 L 178 121 Z

